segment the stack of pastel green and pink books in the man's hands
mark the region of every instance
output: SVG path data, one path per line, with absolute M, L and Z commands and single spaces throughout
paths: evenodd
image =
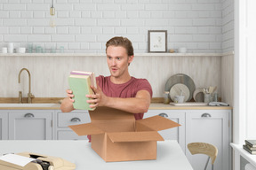
M 69 88 L 73 91 L 75 100 L 73 106 L 75 109 L 81 110 L 94 110 L 95 108 L 91 108 L 90 104 L 86 101 L 90 100 L 90 98 L 86 97 L 86 95 L 94 94 L 91 89 L 91 85 L 96 84 L 96 79 L 94 73 L 91 72 L 81 72 L 81 71 L 72 71 L 68 76 L 68 84 Z

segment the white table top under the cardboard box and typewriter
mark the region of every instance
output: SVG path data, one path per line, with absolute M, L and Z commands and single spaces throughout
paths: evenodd
M 157 142 L 156 160 L 106 163 L 92 150 L 88 141 L 0 141 L 0 155 L 23 151 L 64 158 L 76 164 L 76 170 L 192 170 L 177 141 Z

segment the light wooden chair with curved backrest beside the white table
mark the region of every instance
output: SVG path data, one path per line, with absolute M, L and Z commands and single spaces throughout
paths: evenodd
M 207 162 L 204 166 L 204 170 L 206 170 L 210 158 L 212 159 L 212 170 L 213 170 L 213 164 L 218 154 L 218 149 L 214 145 L 210 143 L 188 143 L 188 150 L 192 155 L 194 154 L 208 155 L 209 158 L 207 159 Z

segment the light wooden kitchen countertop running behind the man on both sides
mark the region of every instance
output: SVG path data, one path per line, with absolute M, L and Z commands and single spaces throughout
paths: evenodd
M 231 110 L 231 106 L 150 104 L 149 110 Z M 60 110 L 60 104 L 0 104 L 0 110 Z

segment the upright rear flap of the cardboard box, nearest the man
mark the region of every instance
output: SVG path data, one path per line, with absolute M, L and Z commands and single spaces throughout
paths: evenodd
M 94 120 L 134 120 L 134 115 L 131 112 L 124 112 L 121 110 L 109 107 L 97 107 L 94 111 L 89 111 L 91 121 Z

